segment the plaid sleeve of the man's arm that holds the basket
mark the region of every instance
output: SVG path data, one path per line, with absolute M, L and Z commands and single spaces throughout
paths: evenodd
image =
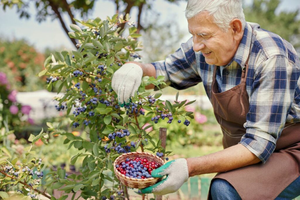
M 285 57 L 263 61 L 254 74 L 249 112 L 246 115 L 244 145 L 263 163 L 276 147 L 292 106 L 299 69 Z

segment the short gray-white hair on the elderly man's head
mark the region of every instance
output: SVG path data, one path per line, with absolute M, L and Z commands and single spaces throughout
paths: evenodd
M 185 17 L 191 19 L 202 12 L 208 12 L 213 16 L 214 22 L 224 32 L 230 28 L 232 19 L 240 19 L 243 30 L 246 20 L 241 0 L 188 0 L 185 9 Z

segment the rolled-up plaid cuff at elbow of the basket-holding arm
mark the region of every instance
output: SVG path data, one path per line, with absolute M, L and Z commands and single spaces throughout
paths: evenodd
M 251 131 L 247 129 L 247 132 Z M 253 132 L 260 132 L 260 134 L 262 134 L 261 131 L 258 130 L 255 130 Z M 241 142 L 239 142 L 239 144 L 244 145 L 250 152 L 256 155 L 262 161 L 262 163 L 265 163 L 268 160 L 276 147 L 276 142 L 271 142 L 270 140 L 251 133 L 246 133 L 241 138 Z

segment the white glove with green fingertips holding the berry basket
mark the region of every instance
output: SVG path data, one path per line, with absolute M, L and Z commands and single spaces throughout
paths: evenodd
M 167 178 L 150 187 L 143 188 L 141 192 L 143 194 L 165 195 L 179 190 L 182 184 L 188 180 L 187 160 L 184 158 L 172 160 L 151 173 L 151 176 L 155 178 L 165 175 Z

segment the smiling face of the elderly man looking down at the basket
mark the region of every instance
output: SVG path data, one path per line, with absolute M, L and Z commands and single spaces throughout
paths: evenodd
M 223 32 L 205 12 L 187 22 L 193 35 L 193 50 L 202 52 L 206 63 L 223 66 L 232 60 L 239 44 L 232 28 Z

